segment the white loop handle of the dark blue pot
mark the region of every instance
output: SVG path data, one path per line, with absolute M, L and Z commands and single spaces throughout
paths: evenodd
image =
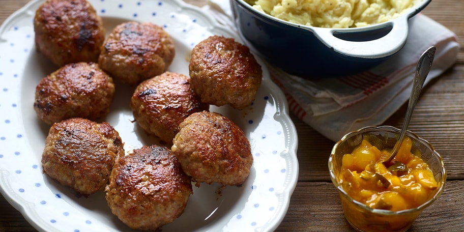
M 399 17 L 387 23 L 370 26 L 368 30 L 377 30 L 390 26 L 391 30 L 385 36 L 368 41 L 348 41 L 334 34 L 368 33 L 366 27 L 350 28 L 349 32 L 334 28 L 317 27 L 314 35 L 334 51 L 352 57 L 377 59 L 390 56 L 399 51 L 408 38 L 408 18 Z

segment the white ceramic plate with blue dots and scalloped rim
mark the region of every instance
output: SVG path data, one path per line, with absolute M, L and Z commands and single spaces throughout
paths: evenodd
M 42 1 L 32 1 L 0 27 L 0 187 L 5 198 L 41 231 L 130 231 L 106 204 L 104 192 L 79 197 L 42 171 L 41 154 L 49 126 L 33 109 L 35 86 L 53 66 L 34 45 L 33 17 Z M 216 24 L 199 8 L 183 2 L 107 1 L 90 3 L 103 18 L 107 32 L 124 21 L 163 25 L 176 42 L 169 71 L 188 75 L 188 57 L 199 41 L 211 35 L 237 35 Z M 249 109 L 211 107 L 233 120 L 247 135 L 254 163 L 240 187 L 193 186 L 184 214 L 163 231 L 269 231 L 282 221 L 298 178 L 297 133 L 288 117 L 283 93 L 264 79 Z M 135 123 L 129 106 L 133 88 L 117 83 L 111 112 L 104 121 L 119 131 L 126 152 L 159 141 Z

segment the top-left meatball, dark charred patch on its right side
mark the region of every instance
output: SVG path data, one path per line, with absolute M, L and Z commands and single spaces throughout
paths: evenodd
M 47 0 L 34 17 L 36 48 L 55 65 L 97 62 L 105 28 L 85 0 Z

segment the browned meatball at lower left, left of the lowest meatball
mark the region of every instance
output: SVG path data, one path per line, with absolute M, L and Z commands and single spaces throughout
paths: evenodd
M 89 195 L 108 183 L 115 159 L 124 155 L 118 131 L 108 123 L 72 118 L 50 128 L 42 153 L 48 176 Z

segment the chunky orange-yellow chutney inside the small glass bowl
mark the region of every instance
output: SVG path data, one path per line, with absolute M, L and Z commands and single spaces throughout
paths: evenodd
M 412 153 L 413 142 L 405 137 L 391 165 L 382 160 L 390 149 L 379 150 L 367 139 L 345 154 L 339 174 L 341 187 L 354 200 L 372 209 L 401 211 L 419 207 L 438 188 L 420 152 Z

